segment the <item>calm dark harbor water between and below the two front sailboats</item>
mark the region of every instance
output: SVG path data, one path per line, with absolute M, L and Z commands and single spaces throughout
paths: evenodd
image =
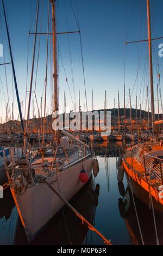
M 156 236 L 162 245 L 163 216 L 158 212 L 153 216 L 152 209 L 133 196 L 126 175 L 123 182 L 117 181 L 117 160 L 121 155 L 121 143 L 95 143 L 94 147 L 99 173 L 96 178 L 92 175 L 89 184 L 70 203 L 110 239 L 113 245 L 141 245 L 142 242 L 145 245 L 155 245 Z M 4 191 L 4 198 L 0 199 L 0 245 L 27 244 L 14 200 L 7 189 Z M 43 228 L 32 244 L 104 245 L 104 242 L 65 206 Z

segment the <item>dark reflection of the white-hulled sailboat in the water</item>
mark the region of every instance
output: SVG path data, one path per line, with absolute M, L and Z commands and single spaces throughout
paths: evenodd
M 93 224 L 95 209 L 98 205 L 99 184 L 94 179 L 84 187 L 71 201 L 75 209 L 82 214 L 86 220 Z M 32 241 L 33 245 L 82 245 L 87 235 L 87 225 L 74 215 L 66 206 L 55 215 L 43 231 Z M 26 235 L 18 219 L 15 245 L 27 244 Z

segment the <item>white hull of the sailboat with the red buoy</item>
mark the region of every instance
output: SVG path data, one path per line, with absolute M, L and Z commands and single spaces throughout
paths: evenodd
M 92 173 L 92 162 L 93 157 L 83 161 L 84 170 L 89 177 Z M 61 196 L 66 200 L 70 200 L 84 186 L 84 183 L 79 180 L 80 171 L 83 169 L 83 166 L 82 162 L 75 164 L 51 176 L 47 182 L 58 192 L 60 188 Z M 33 239 L 40 229 L 64 205 L 60 198 L 43 183 L 28 188 L 21 196 L 15 194 L 14 188 L 11 188 L 11 192 L 29 240 Z

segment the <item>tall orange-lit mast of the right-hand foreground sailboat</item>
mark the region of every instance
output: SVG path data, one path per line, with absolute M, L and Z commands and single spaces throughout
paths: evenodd
M 151 43 L 151 17 L 150 17 L 150 3 L 147 0 L 147 19 L 148 19 L 148 48 L 149 48 L 149 74 L 151 84 L 151 111 L 152 111 L 152 129 L 154 134 L 154 92 L 153 92 L 153 68 L 152 68 L 152 43 Z

